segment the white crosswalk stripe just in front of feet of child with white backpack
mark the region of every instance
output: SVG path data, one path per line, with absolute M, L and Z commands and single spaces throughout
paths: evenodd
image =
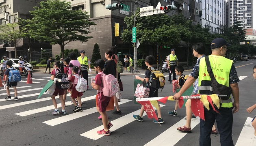
M 93 98 L 95 98 L 95 96 L 93 96 Z M 132 100 L 122 99 L 121 102 L 118 102 L 118 104 L 121 105 L 121 104 L 127 103 L 129 101 L 132 101 Z M 64 123 L 64 122 L 68 122 L 70 120 L 74 120 L 76 118 L 80 118 L 82 116 L 87 116 L 89 114 L 93 114 L 95 112 L 98 112 L 97 108 L 92 107 L 90 109 L 83 110 L 82 112 L 73 112 L 72 114 L 67 114 L 66 116 L 61 116 L 59 118 L 54 118 L 52 120 L 44 121 L 43 123 L 45 123 L 47 125 L 50 125 L 50 126 L 55 126 L 55 125 L 59 125 L 59 124 Z

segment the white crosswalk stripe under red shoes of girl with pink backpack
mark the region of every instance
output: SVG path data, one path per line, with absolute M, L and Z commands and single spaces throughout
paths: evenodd
M 122 100 L 123 100 L 123 99 L 122 99 Z M 163 107 L 163 106 L 165 106 L 165 105 L 160 105 L 160 107 Z M 155 107 L 154 107 L 154 110 L 156 110 Z M 120 117 L 120 118 L 117 118 L 117 119 L 111 121 L 111 123 L 112 123 L 114 126 L 111 128 L 110 131 L 111 131 L 111 132 L 112 132 L 112 131 L 115 131 L 115 130 L 117 130 L 117 129 L 119 129 L 119 128 L 121 128 L 121 127 L 123 127 L 123 126 L 129 124 L 130 122 L 135 121 L 136 119 L 133 118 L 132 115 L 138 114 L 139 112 L 140 112 L 140 110 L 136 110 L 136 111 L 134 111 L 134 112 L 132 112 L 132 113 L 130 113 L 130 114 L 127 114 L 127 115 L 125 115 L 125 116 L 122 116 L 122 117 Z M 145 115 L 146 115 L 146 112 L 144 112 L 143 116 L 145 116 Z M 184 121 L 186 121 L 186 120 L 184 120 Z M 99 138 L 101 138 L 101 137 L 104 136 L 104 135 L 98 135 L 98 134 L 96 133 L 98 130 L 101 130 L 101 129 L 104 129 L 103 125 L 101 125 L 101 126 L 99 126 L 99 127 L 96 127 L 96 128 L 94 128 L 94 129 L 91 129 L 90 131 L 87 131 L 87 132 L 82 133 L 82 134 L 80 134 L 80 135 L 81 135 L 81 136 L 84 136 L 84 137 L 87 137 L 87 138 L 90 138 L 90 139 L 92 139 L 92 140 L 98 140 Z M 169 139 L 169 140 L 170 140 L 170 139 Z M 167 144 L 166 146 L 170 146 L 170 145 Z

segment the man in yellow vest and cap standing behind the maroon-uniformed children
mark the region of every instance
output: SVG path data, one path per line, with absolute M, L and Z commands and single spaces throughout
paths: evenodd
M 81 70 L 82 70 L 82 77 L 84 77 L 88 82 L 88 67 L 89 67 L 89 72 L 91 72 L 91 62 L 90 59 L 85 56 L 85 50 L 80 51 L 81 56 L 79 56 L 76 60 L 80 62 L 81 64 Z M 88 89 L 89 86 L 87 86 Z

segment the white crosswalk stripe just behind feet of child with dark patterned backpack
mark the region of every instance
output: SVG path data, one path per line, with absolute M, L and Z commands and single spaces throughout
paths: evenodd
M 70 96 L 70 94 L 67 95 L 67 97 L 68 97 L 68 96 Z M 89 100 L 91 100 L 91 99 L 95 99 L 95 96 L 96 96 L 96 95 L 93 95 L 93 96 L 90 96 L 90 97 L 84 97 L 84 98 L 82 98 L 81 100 L 82 100 L 82 102 L 84 102 L 84 101 L 89 101 Z M 49 97 L 49 98 L 52 99 L 51 97 Z M 56 97 L 56 98 L 59 98 L 59 96 Z M 55 99 L 56 99 L 56 98 L 55 98 Z M 49 100 L 50 100 L 50 99 L 49 99 Z M 66 101 L 65 104 L 66 104 L 66 105 L 72 105 L 73 103 L 71 103 L 70 101 Z M 59 104 L 57 104 L 57 107 L 58 107 L 58 108 L 60 107 Z M 36 114 L 36 113 L 39 113 L 39 112 L 45 112 L 45 111 L 52 110 L 52 109 L 54 109 L 54 106 L 53 106 L 53 105 L 49 105 L 49 106 L 46 106 L 46 107 L 41 107 L 41 108 L 37 108 L 37 109 L 33 109 L 33 110 L 28 110 L 28 111 L 16 113 L 16 115 L 19 115 L 19 116 L 28 116 L 28 115 Z

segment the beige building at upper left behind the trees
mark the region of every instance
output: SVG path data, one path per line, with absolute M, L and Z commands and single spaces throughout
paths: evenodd
M 15 23 L 19 21 L 19 18 L 31 19 L 29 11 L 33 11 L 33 7 L 39 6 L 38 2 L 41 1 L 46 0 L 0 0 L 0 24 Z M 52 46 L 47 41 L 30 40 L 31 57 L 33 60 L 40 58 L 41 48 L 52 49 Z M 0 54 L 1 57 L 6 55 L 9 58 L 14 58 L 14 45 L 0 40 Z M 17 44 L 17 56 L 27 56 L 29 58 L 28 39 L 22 39 Z

